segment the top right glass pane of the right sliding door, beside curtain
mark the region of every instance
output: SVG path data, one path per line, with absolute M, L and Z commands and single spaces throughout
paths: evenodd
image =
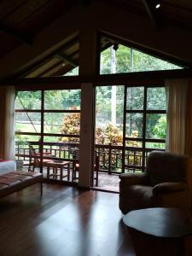
M 166 110 L 165 87 L 148 88 L 147 94 L 147 109 Z

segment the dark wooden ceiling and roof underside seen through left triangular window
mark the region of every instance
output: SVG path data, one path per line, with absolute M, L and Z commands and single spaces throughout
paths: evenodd
M 154 29 L 176 26 L 192 32 L 191 0 L 160 0 L 160 9 L 154 9 L 156 0 L 2 0 L 0 2 L 0 58 L 20 44 L 33 44 L 36 34 L 49 26 L 69 9 L 77 5 L 85 9 L 91 2 L 113 5 L 147 16 Z M 68 25 L 70 26 L 70 24 Z M 110 44 L 110 42 L 108 42 Z M 106 45 L 102 45 L 104 49 Z M 25 77 L 58 76 L 79 65 L 79 38 L 73 38 L 62 49 L 39 62 Z M 22 76 L 23 76 L 22 75 Z

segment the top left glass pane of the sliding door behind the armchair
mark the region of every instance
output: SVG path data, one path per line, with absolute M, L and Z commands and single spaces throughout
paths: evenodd
M 143 87 L 128 87 L 126 96 L 127 110 L 143 110 Z

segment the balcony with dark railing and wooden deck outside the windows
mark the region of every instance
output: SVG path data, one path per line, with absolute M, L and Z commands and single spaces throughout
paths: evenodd
M 24 168 L 27 170 L 29 166 L 29 145 L 39 152 L 38 142 L 28 142 L 23 144 L 16 143 L 15 155 L 18 160 L 23 160 Z M 70 161 L 70 172 L 73 172 L 73 150 L 79 148 L 79 143 L 44 143 L 44 153 L 49 152 L 46 158 L 51 160 Z M 98 188 L 115 190 L 119 189 L 119 174 L 122 173 L 122 153 L 123 146 L 96 144 L 96 154 L 98 155 Z M 143 160 L 143 148 L 125 147 L 125 172 L 143 172 L 143 161 L 150 151 L 154 148 L 148 148 Z M 47 168 L 43 168 L 44 177 L 47 177 Z M 67 180 L 64 178 L 64 180 Z M 72 175 L 70 182 L 72 182 Z

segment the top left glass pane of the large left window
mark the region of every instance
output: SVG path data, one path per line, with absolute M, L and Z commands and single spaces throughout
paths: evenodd
M 19 91 L 15 99 L 15 109 L 41 109 L 41 91 Z

